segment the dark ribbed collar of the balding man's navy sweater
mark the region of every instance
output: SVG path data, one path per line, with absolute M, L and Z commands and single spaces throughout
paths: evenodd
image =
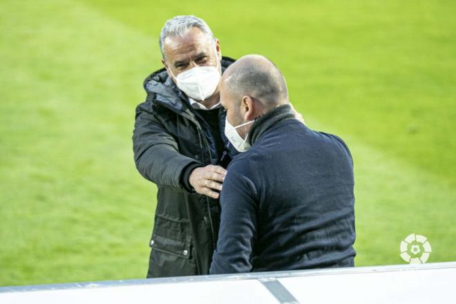
M 294 113 L 289 104 L 283 104 L 273 108 L 271 111 L 256 118 L 253 126 L 251 126 L 249 135 L 247 136 L 247 142 L 253 146 L 256 140 L 258 140 L 258 138 L 267 130 L 271 129 L 272 126 L 283 120 L 290 119 L 294 119 Z

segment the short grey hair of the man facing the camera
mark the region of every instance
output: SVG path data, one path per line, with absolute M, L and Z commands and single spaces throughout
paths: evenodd
M 182 15 L 176 16 L 164 23 L 162 31 L 160 32 L 160 51 L 162 52 L 162 57 L 164 58 L 164 39 L 167 37 L 181 36 L 183 37 L 191 28 L 199 28 L 202 32 L 208 35 L 209 38 L 215 40 L 216 37 L 213 36 L 211 28 L 207 23 L 193 15 Z

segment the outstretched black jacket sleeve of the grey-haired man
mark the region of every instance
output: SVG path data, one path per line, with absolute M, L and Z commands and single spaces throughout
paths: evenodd
M 144 178 L 180 191 L 189 191 L 182 181 L 184 169 L 191 164 L 200 164 L 179 153 L 173 136 L 153 115 L 151 102 L 144 102 L 136 108 L 133 153 L 136 168 Z

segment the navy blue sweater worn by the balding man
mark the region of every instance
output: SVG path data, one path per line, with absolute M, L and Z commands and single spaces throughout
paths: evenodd
M 335 135 L 294 120 L 288 105 L 256 120 L 228 167 L 211 274 L 353 266 L 354 179 Z

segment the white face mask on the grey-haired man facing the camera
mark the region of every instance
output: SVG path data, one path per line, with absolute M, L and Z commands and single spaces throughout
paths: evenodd
M 186 70 L 175 77 L 175 81 L 178 88 L 188 97 L 204 101 L 216 91 L 220 77 L 217 64 L 217 67 L 196 66 Z

